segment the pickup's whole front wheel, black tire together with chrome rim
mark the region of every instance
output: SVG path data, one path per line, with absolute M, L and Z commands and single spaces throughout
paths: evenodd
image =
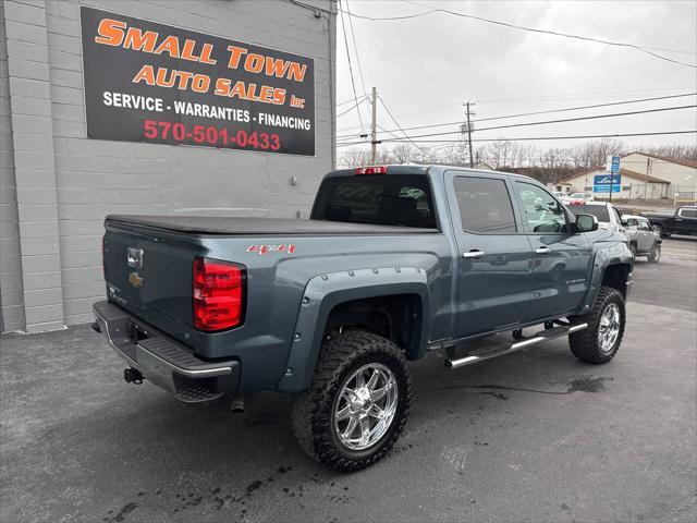
M 573 318 L 574 323 L 586 323 L 584 330 L 568 335 L 571 352 L 582 362 L 596 365 L 614 357 L 622 343 L 626 312 L 624 297 L 616 289 L 600 289 L 590 313 Z

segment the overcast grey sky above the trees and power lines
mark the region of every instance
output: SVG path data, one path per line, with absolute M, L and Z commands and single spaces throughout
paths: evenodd
M 423 4 L 425 7 L 419 7 Z M 346 9 L 346 0 L 342 0 Z M 367 1 L 350 0 L 362 16 L 400 16 L 445 8 L 461 13 L 540 29 L 622 41 L 651 48 L 682 62 L 697 63 L 697 2 L 686 1 Z M 541 111 L 636 98 L 697 92 L 697 69 L 670 63 L 638 50 L 542 35 L 491 25 L 444 13 L 403 21 L 353 17 L 358 61 L 344 15 L 358 96 L 376 86 L 402 127 L 452 122 L 463 118 L 463 101 L 476 102 L 476 118 Z M 353 98 L 341 17 L 337 21 L 339 104 Z M 675 52 L 683 51 L 683 52 Z M 363 71 L 360 80 L 358 63 Z M 657 107 L 697 104 L 697 97 L 649 101 L 575 112 L 487 122 L 486 126 L 573 118 Z M 395 129 L 378 105 L 378 124 Z M 340 105 L 338 113 L 351 108 Z M 369 105 L 360 106 L 364 126 Z M 339 143 L 359 134 L 357 111 L 338 119 Z M 478 124 L 484 127 L 485 123 Z M 684 109 L 653 114 L 482 131 L 475 137 L 558 136 L 638 133 L 697 129 L 697 111 Z M 407 131 L 427 134 L 455 126 Z M 399 134 L 399 133 L 398 133 Z M 388 137 L 380 133 L 379 137 Z M 451 135 L 447 139 L 456 138 Z M 420 138 L 438 139 L 438 138 Z M 695 144 L 696 135 L 620 138 L 629 146 Z M 528 142 L 566 147 L 580 141 Z M 433 147 L 438 144 L 423 144 Z M 356 148 L 356 147 L 354 147 Z M 341 151 L 348 148 L 339 148 Z

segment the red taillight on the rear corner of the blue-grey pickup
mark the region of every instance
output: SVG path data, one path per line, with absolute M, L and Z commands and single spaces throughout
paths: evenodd
M 217 259 L 194 259 L 194 327 L 212 332 L 242 323 L 245 269 Z

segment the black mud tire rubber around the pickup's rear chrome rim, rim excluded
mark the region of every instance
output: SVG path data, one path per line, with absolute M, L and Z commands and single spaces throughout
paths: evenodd
M 390 428 L 372 447 L 354 451 L 343 446 L 333 429 L 332 413 L 344 381 L 360 366 L 381 363 L 394 374 L 399 399 Z M 406 423 L 412 379 L 404 352 L 390 340 L 365 330 L 348 330 L 330 338 L 320 350 L 313 384 L 293 397 L 293 433 L 307 454 L 338 472 L 366 469 L 394 446 Z

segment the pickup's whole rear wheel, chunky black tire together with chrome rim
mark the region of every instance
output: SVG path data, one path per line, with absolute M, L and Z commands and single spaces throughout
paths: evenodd
M 293 398 L 293 431 L 311 458 L 353 472 L 382 459 L 399 439 L 411 400 L 404 352 L 364 330 L 321 348 L 313 384 Z

